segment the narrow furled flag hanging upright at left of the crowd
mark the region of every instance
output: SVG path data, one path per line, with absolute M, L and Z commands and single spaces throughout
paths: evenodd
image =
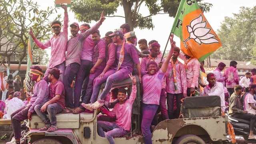
M 33 64 L 33 58 L 32 58 L 32 51 L 33 51 L 33 41 L 32 41 L 32 36 L 28 36 L 28 57 L 27 57 L 27 71 L 26 71 L 26 78 L 25 78 L 25 83 L 26 83 L 26 90 L 27 92 L 30 92 L 32 89 L 32 82 L 31 79 L 28 75 L 28 72 L 30 71 L 30 67 Z

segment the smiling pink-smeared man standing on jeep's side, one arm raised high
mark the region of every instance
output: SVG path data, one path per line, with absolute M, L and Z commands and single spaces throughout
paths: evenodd
M 160 45 L 157 42 L 152 43 L 151 46 L 160 48 Z M 172 57 L 173 50 L 174 47 L 172 46 L 168 56 L 166 56 L 164 63 L 158 71 L 158 65 L 156 62 L 148 62 L 148 74 L 142 77 L 143 96 L 141 101 L 141 130 L 145 144 L 152 144 L 150 125 L 159 106 L 160 95 L 162 91 L 161 85 L 164 81 L 164 76 L 168 68 L 168 63 Z

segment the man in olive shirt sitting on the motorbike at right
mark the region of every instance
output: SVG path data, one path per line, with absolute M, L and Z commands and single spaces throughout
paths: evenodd
M 242 92 L 242 89 L 243 88 L 240 85 L 234 86 L 234 93 L 230 96 L 229 100 L 228 115 L 234 118 L 250 120 L 250 133 L 248 139 L 256 139 L 256 135 L 253 134 L 256 116 L 254 114 L 248 114 L 248 111 L 246 110 L 242 110 L 243 96 L 245 94 L 245 92 Z

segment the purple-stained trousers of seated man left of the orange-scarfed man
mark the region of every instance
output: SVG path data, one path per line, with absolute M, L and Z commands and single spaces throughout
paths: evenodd
M 111 69 L 111 70 L 108 70 L 106 71 L 105 73 L 105 77 L 104 78 L 95 78 L 94 79 L 94 86 L 93 86 L 93 92 L 92 92 L 92 96 L 91 96 L 91 99 L 90 99 L 90 102 L 94 103 L 97 101 L 97 98 L 99 96 L 99 93 L 100 93 L 100 86 L 103 82 L 106 82 L 107 78 L 114 74 L 116 72 L 116 70 L 114 69 Z

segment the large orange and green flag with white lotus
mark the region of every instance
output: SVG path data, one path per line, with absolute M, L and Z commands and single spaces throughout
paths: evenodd
M 181 0 L 172 33 L 180 38 L 180 50 L 200 62 L 222 46 L 196 0 Z

